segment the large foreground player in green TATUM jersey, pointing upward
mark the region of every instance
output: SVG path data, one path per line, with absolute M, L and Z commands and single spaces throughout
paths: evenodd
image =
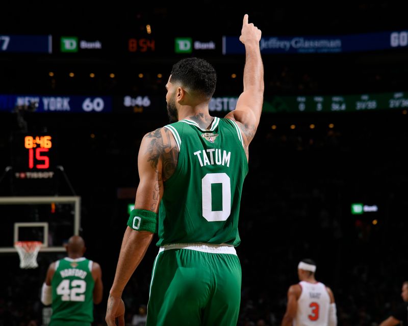
M 173 65 L 167 108 L 174 123 L 146 134 L 140 183 L 123 237 L 106 321 L 124 325 L 122 291 L 155 232 L 147 326 L 236 325 L 241 297 L 238 216 L 248 146 L 263 104 L 261 31 L 244 16 L 244 90 L 225 118 L 209 114 L 216 72 L 205 60 Z

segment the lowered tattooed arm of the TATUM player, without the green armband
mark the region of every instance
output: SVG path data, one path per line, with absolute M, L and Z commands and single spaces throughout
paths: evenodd
M 177 165 L 178 152 L 175 141 L 166 128 L 147 133 L 140 145 L 138 170 L 140 183 L 136 192 L 136 209 L 158 212 L 163 196 L 163 178 L 169 178 Z M 123 289 L 153 238 L 153 233 L 126 228 L 116 267 L 115 279 L 109 293 L 105 320 L 109 326 L 124 325 L 124 304 L 121 300 Z

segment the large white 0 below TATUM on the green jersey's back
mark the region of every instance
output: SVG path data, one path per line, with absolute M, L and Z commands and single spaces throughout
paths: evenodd
M 225 221 L 231 214 L 231 180 L 226 173 L 207 173 L 201 179 L 202 216 L 208 222 Z

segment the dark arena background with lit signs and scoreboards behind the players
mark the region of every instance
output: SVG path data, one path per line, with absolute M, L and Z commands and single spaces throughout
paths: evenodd
M 2 9 L 0 325 L 47 325 L 41 285 L 75 232 L 101 266 L 104 299 L 93 324 L 106 324 L 138 148 L 168 123 L 172 64 L 191 56 L 213 64 L 210 113 L 225 116 L 243 87 L 245 13 L 262 30 L 265 97 L 241 201 L 238 324 L 281 323 L 303 258 L 316 261 L 316 278 L 333 290 L 339 325 L 378 325 L 402 303 L 406 2 L 84 5 Z M 19 267 L 15 230 L 19 240 L 48 241 L 37 268 Z M 125 288 L 126 325 L 147 304 L 157 252 L 152 243 Z

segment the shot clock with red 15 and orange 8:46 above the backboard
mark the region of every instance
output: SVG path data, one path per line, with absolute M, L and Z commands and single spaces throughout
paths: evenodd
M 14 134 L 13 188 L 18 194 L 54 194 L 55 137 L 49 133 Z

